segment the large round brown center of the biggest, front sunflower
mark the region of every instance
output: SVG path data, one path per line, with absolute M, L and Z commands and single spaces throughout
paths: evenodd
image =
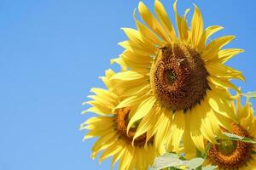
M 188 110 L 206 95 L 207 69 L 200 54 L 183 43 L 166 44 L 154 60 L 150 83 L 157 99 L 172 110 Z

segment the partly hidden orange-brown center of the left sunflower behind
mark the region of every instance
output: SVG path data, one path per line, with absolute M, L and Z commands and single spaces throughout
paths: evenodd
M 131 144 L 133 137 L 136 133 L 137 127 L 131 127 L 129 132 L 127 133 L 127 124 L 129 119 L 130 108 L 122 108 L 116 110 L 116 127 L 119 133 L 119 138 L 125 139 L 128 144 Z M 146 133 L 143 133 L 141 136 L 137 137 L 134 140 L 135 146 L 144 146 L 146 142 Z M 149 140 L 151 141 L 151 139 Z

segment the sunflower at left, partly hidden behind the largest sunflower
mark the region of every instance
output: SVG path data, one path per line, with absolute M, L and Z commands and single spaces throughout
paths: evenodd
M 114 110 L 115 106 L 122 100 L 119 98 L 119 92 L 113 89 L 113 84 L 109 82 L 109 78 L 113 77 L 112 70 L 106 71 L 106 77 L 102 77 L 102 81 L 108 90 L 102 88 L 92 88 L 90 95 L 92 99 L 84 104 L 90 104 L 85 112 L 95 112 L 97 116 L 89 118 L 80 129 L 87 129 L 89 132 L 84 139 L 98 137 L 96 143 L 92 147 L 91 157 L 94 159 L 98 152 L 102 151 L 99 161 L 113 156 L 111 168 L 116 161 L 119 161 L 120 170 L 142 169 L 146 170 L 153 164 L 157 151 L 154 147 L 154 138 L 146 143 L 146 134 L 139 136 L 133 140 L 136 126 L 131 127 L 127 131 L 127 121 L 131 107 L 124 107 Z M 131 144 L 133 142 L 133 144 Z

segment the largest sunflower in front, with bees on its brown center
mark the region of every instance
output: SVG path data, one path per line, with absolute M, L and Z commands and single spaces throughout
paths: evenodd
M 131 112 L 127 131 L 139 124 L 134 139 L 147 133 L 147 140 L 155 137 L 157 147 L 179 150 L 181 141 L 185 150 L 197 148 L 204 152 L 204 138 L 216 142 L 221 125 L 230 129 L 229 118 L 235 115 L 228 103 L 235 99 L 230 89 L 239 92 L 230 79 L 244 81 L 241 71 L 224 63 L 243 50 L 222 49 L 234 36 L 209 37 L 221 26 L 204 30 L 200 9 L 195 5 L 190 28 L 173 4 L 177 31 L 172 26 L 166 9 L 155 0 L 154 14 L 142 2 L 138 12 L 145 22 L 134 20 L 137 29 L 123 28 L 128 40 L 120 42 L 125 48 L 119 58 L 113 59 L 127 67 L 111 78 L 114 88 L 127 96 L 116 108 L 137 105 Z

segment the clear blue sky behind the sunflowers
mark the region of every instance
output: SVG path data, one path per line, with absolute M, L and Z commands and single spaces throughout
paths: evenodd
M 162 2 L 173 14 L 173 0 Z M 0 170 L 109 169 L 109 160 L 90 160 L 94 140 L 82 143 L 79 124 L 91 115 L 80 115 L 81 103 L 91 87 L 102 87 L 98 77 L 122 51 L 119 28 L 135 27 L 137 3 L 0 1 Z M 228 64 L 244 72 L 247 82 L 236 82 L 243 91 L 256 90 L 256 3 L 179 0 L 180 13 L 192 3 L 206 26 L 225 27 L 218 36 L 237 36 L 229 47 L 246 53 Z

